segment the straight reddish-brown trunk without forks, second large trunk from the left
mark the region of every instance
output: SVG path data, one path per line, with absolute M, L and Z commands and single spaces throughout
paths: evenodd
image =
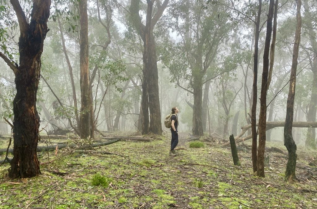
M 89 86 L 89 66 L 88 66 L 88 16 L 87 0 L 78 2 L 80 14 L 80 87 L 81 87 L 81 111 L 80 111 L 80 137 L 81 139 L 90 136 L 91 126 L 91 99 Z

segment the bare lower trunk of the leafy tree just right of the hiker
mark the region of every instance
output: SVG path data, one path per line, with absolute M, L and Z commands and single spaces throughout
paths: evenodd
M 193 105 L 193 129 L 192 134 L 194 136 L 203 136 L 203 121 L 202 121 L 202 97 L 203 97 L 203 85 L 202 78 L 200 76 L 194 77 L 194 105 Z

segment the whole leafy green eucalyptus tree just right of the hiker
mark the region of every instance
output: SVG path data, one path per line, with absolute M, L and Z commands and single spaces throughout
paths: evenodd
M 191 0 L 172 2 L 168 12 L 170 28 L 181 40 L 167 43 L 163 62 L 170 69 L 171 81 L 194 95 L 192 133 L 202 136 L 203 85 L 221 72 L 212 71 L 210 77 L 206 73 L 216 61 L 219 45 L 229 38 L 234 21 L 230 21 L 230 12 L 223 5 L 202 7 Z

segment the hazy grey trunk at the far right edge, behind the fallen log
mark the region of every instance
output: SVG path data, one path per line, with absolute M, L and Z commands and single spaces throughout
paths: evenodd
M 312 94 L 309 102 L 309 107 L 308 107 L 308 114 L 307 114 L 307 121 L 315 122 L 316 121 L 316 113 L 317 113 L 317 41 L 316 41 L 316 33 L 312 29 L 311 25 L 312 20 L 310 14 L 310 9 L 309 9 L 309 4 L 307 0 L 304 0 L 304 14 L 307 17 L 307 30 L 308 30 L 308 37 L 310 40 L 310 44 L 312 45 L 312 51 L 313 51 L 313 65 L 312 65 L 312 72 L 313 72 L 313 83 L 312 83 Z M 308 134 L 307 134 L 307 139 L 306 139 L 306 146 L 309 147 L 315 147 L 315 140 L 316 140 L 316 131 L 315 128 L 308 128 Z

